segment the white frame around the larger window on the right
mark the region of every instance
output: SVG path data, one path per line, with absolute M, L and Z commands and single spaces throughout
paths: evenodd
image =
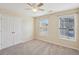
M 74 16 L 74 31 L 75 31 L 75 34 L 74 34 L 74 38 L 68 38 L 68 36 L 64 36 L 62 37 L 61 33 L 60 33 L 60 17 L 64 17 L 64 16 Z M 60 39 L 64 39 L 64 40 L 68 40 L 68 41 L 76 41 L 76 38 L 77 38 L 77 14 L 68 14 L 68 15 L 61 15 L 61 16 L 58 16 L 58 35 L 59 35 L 59 38 Z

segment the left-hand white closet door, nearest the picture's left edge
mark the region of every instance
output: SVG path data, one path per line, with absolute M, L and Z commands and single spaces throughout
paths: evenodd
M 14 45 L 14 21 L 11 16 L 2 16 L 2 49 Z

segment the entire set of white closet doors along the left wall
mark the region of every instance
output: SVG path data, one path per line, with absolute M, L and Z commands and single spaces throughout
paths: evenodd
M 0 17 L 0 48 L 7 48 L 22 42 L 21 19 L 13 16 Z

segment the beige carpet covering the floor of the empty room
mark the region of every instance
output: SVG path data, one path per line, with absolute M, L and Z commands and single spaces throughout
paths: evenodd
M 78 55 L 79 51 L 49 44 L 40 40 L 31 40 L 0 51 L 1 55 Z

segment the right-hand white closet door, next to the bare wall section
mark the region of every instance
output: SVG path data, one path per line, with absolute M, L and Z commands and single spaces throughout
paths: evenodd
M 22 40 L 22 22 L 18 17 L 14 17 L 14 44 L 21 43 Z

